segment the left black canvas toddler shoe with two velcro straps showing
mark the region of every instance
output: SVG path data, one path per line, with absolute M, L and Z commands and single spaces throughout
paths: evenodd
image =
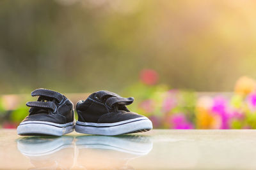
M 73 104 L 67 97 L 47 89 L 36 89 L 37 101 L 26 103 L 29 115 L 18 126 L 19 135 L 61 136 L 74 130 Z

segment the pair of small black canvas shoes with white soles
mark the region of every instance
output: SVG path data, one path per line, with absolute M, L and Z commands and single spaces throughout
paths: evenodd
M 152 129 L 152 122 L 147 117 L 125 106 L 133 102 L 133 97 L 125 98 L 105 90 L 94 92 L 76 104 L 76 122 L 74 106 L 62 94 L 36 89 L 31 96 L 38 96 L 38 99 L 26 103 L 31 108 L 28 117 L 17 128 L 19 135 L 61 136 L 75 129 L 84 134 L 113 136 Z

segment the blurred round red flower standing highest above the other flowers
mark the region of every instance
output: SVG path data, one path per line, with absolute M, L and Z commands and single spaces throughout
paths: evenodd
M 143 69 L 140 73 L 140 80 L 146 85 L 154 85 L 158 81 L 158 74 L 153 69 Z

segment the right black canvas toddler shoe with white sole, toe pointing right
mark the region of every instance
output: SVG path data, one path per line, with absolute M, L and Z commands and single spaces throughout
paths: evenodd
M 149 131 L 152 122 L 126 108 L 125 105 L 132 104 L 133 100 L 133 97 L 124 98 L 104 90 L 91 94 L 76 105 L 76 131 L 101 135 Z

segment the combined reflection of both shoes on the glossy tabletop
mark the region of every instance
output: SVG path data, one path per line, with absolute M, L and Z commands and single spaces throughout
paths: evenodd
M 31 169 L 133 169 L 131 159 L 152 150 L 147 136 L 26 137 L 17 141 Z

